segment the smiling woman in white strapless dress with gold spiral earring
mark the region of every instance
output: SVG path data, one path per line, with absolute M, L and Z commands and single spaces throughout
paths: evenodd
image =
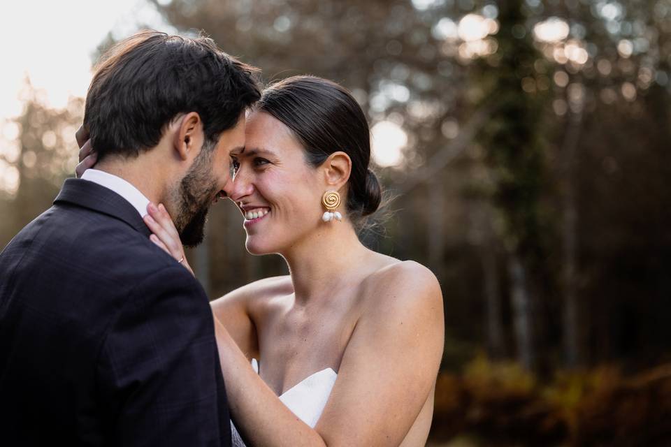
M 280 254 L 290 272 L 212 301 L 240 434 L 250 446 L 424 446 L 442 295 L 428 269 L 356 235 L 380 204 L 359 105 L 320 78 L 277 82 L 231 158 L 226 193 L 243 214 L 247 251 Z M 152 217 L 152 240 L 182 259 L 168 214 Z

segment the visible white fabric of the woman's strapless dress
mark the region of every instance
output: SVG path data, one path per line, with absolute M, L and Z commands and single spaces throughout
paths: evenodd
M 252 359 L 252 367 L 259 374 L 259 362 L 255 358 Z M 315 427 L 337 378 L 338 374 L 333 369 L 322 369 L 282 393 L 280 400 L 304 423 Z M 246 447 L 232 421 L 231 435 L 233 447 Z

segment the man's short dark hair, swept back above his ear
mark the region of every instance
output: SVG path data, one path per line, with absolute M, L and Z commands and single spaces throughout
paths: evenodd
M 117 43 L 96 66 L 86 98 L 84 124 L 98 159 L 138 156 L 188 112 L 201 117 L 203 147 L 214 147 L 260 98 L 257 72 L 206 37 L 140 31 Z

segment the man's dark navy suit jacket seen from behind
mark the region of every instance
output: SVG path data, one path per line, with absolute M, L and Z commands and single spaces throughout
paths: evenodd
M 231 445 L 208 298 L 149 234 L 67 179 L 3 249 L 0 445 Z

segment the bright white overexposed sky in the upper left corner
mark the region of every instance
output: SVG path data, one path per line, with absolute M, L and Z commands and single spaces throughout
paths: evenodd
M 45 105 L 64 108 L 70 96 L 84 96 L 91 80 L 91 55 L 109 31 L 125 37 L 139 23 L 170 31 L 147 1 L 25 0 L 0 15 L 3 82 L 0 119 L 20 115 L 24 82 L 41 93 Z M 174 31 L 174 30 L 172 30 Z

